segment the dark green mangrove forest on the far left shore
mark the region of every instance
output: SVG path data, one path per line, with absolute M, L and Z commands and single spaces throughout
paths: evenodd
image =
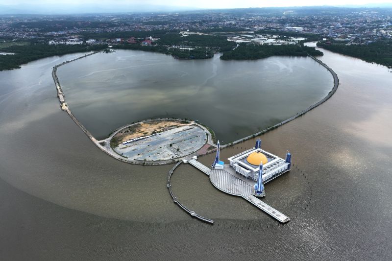
M 47 44 L 4 47 L 0 48 L 0 51 L 13 52 L 15 54 L 0 55 L 0 71 L 21 68 L 20 66 L 22 64 L 53 55 L 101 50 L 106 47 L 106 45 L 82 46 Z

